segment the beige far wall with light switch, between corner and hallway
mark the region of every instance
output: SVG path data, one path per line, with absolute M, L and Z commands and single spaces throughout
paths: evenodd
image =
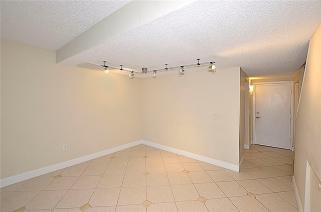
M 145 78 L 141 106 L 143 139 L 239 164 L 239 67 Z

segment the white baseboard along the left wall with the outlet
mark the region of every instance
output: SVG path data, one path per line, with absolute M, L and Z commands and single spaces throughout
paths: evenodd
M 141 140 L 136 140 L 136 141 L 131 142 L 131 143 L 126 143 L 124 145 L 116 146 L 116 147 L 109 148 L 109 149 L 106 149 L 106 150 L 103 150 L 103 151 L 99 151 L 99 152 L 96 152 L 96 153 L 88 154 L 88 155 L 85 155 L 85 156 L 82 156 L 82 157 L 77 157 L 75 159 L 67 160 L 67 161 L 56 163 L 56 164 L 49 165 L 49 166 L 46 166 L 46 167 L 38 168 L 36 170 L 31 170 L 31 171 L 27 171 L 27 172 L 20 173 L 20 174 L 17 174 L 17 175 L 13 175 L 13 176 L 10 176 L 10 177 L 6 177 L 6 178 L 3 178 L 3 179 L 0 180 L 0 187 L 11 185 L 11 184 L 14 184 L 14 183 L 17 183 L 17 182 L 24 181 L 26 179 L 30 179 L 30 178 L 33 178 L 33 177 L 36 177 L 36 176 L 40 176 L 40 175 L 43 175 L 43 174 L 46 174 L 46 173 L 49 173 L 49 172 L 52 172 L 52 171 L 56 171 L 56 170 L 59 170 L 59 169 L 62 169 L 62 168 L 66 168 L 66 167 L 69 167 L 71 165 L 75 165 L 75 164 L 78 164 L 78 163 L 81 163 L 81 162 L 85 162 L 85 161 L 88 161 L 88 160 L 91 160 L 91 159 L 95 159 L 97 157 L 101 157 L 101 156 L 104 156 L 104 155 L 107 155 L 107 154 L 111 154 L 111 153 L 114 153 L 116 151 L 120 151 L 120 150 L 123 150 L 125 148 L 129 148 L 129 147 L 132 147 L 134 145 L 138 145 L 141 142 L 142 142 Z

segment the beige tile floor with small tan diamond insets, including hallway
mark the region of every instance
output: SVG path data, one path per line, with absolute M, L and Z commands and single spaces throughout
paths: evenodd
M 139 144 L 3 187 L 1 211 L 298 211 L 293 158 L 252 145 L 235 172 Z

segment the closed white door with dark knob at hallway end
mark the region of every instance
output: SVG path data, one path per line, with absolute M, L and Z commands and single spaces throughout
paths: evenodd
M 290 149 L 291 83 L 255 83 L 255 143 Z

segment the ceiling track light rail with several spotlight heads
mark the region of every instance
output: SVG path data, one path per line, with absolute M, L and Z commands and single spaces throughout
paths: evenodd
M 85 63 L 77 64 L 76 66 L 87 67 L 87 68 L 97 69 L 97 70 L 104 70 L 105 73 L 109 73 L 109 69 L 108 68 L 117 69 L 117 70 L 121 70 L 121 71 L 126 71 L 126 72 L 129 72 L 129 74 L 128 74 L 129 79 L 133 79 L 135 74 L 140 75 L 140 74 L 145 74 L 145 73 L 150 73 L 150 72 L 152 72 L 153 78 L 155 78 L 157 71 L 163 72 L 163 71 L 169 71 L 169 70 L 178 70 L 179 76 L 184 76 L 185 75 L 185 69 L 184 68 L 202 67 L 202 66 L 205 66 L 207 64 L 210 64 L 210 66 L 208 66 L 208 72 L 212 72 L 213 74 L 216 73 L 216 64 L 215 64 L 214 61 L 200 62 L 200 58 L 197 58 L 197 63 L 194 63 L 194 64 L 174 66 L 174 67 L 168 67 L 168 64 L 165 64 L 165 68 L 154 69 L 152 71 L 148 71 L 146 67 L 142 67 L 141 68 L 141 72 L 124 69 L 124 68 L 122 68 L 123 65 L 120 65 L 120 68 L 119 67 L 108 66 L 108 65 L 106 65 L 106 61 L 103 61 L 103 62 L 104 62 L 103 65 L 95 64 L 95 63 L 91 63 L 91 62 L 85 62 Z

